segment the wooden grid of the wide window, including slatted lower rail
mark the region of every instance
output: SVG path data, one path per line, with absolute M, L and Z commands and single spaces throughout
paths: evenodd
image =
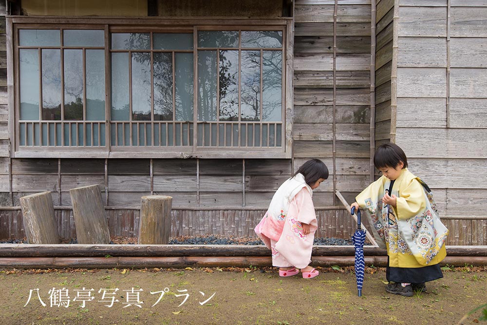
M 33 23 L 30 23 L 34 20 Z M 144 157 L 201 157 L 201 158 L 289 158 L 291 136 L 291 124 L 289 107 L 292 107 L 292 91 L 289 90 L 292 83 L 292 42 L 290 42 L 292 33 L 292 21 L 287 19 L 277 20 L 272 26 L 266 26 L 268 22 L 249 21 L 248 24 L 234 25 L 231 21 L 226 24 L 214 24 L 211 20 L 206 20 L 206 24 L 193 26 L 168 26 L 152 27 L 138 26 L 140 24 L 130 24 L 127 26 L 112 26 L 111 24 L 99 24 L 99 19 L 71 19 L 70 23 L 65 25 L 38 23 L 36 19 L 29 18 L 7 18 L 10 24 L 12 35 L 8 35 L 14 40 L 13 49 L 14 62 L 8 60 L 9 65 L 15 68 L 14 78 L 16 85 L 16 95 L 13 105 L 15 106 L 16 124 L 12 128 L 12 134 L 15 137 L 12 148 L 12 157 L 131 157 L 141 155 Z M 74 21 L 80 20 L 80 23 L 73 24 Z M 128 19 L 130 20 L 130 19 Z M 137 19 L 140 20 L 140 19 Z M 152 19 L 150 19 L 152 20 Z M 84 23 L 82 23 L 84 22 Z M 86 22 L 90 22 L 87 24 Z M 208 24 L 210 23 L 210 24 Z M 212 24 L 213 23 L 213 24 Z M 240 24 L 242 22 L 240 21 Z M 25 47 L 19 46 L 20 29 L 56 29 L 60 31 L 60 46 L 53 47 Z M 104 30 L 105 46 L 104 47 L 73 47 L 63 46 L 64 30 Z M 239 44 L 237 48 L 200 48 L 198 47 L 199 31 L 238 31 Z M 281 48 L 242 48 L 241 35 L 242 31 L 281 31 L 282 46 Z M 8 32 L 8 28 L 7 28 Z M 193 50 L 154 50 L 153 33 L 192 33 Z M 111 34 L 112 33 L 150 33 L 150 50 L 112 50 Z M 39 70 L 42 75 L 41 66 L 41 49 L 59 49 L 61 53 L 61 120 L 44 121 L 42 118 L 42 85 L 39 86 L 39 121 L 24 121 L 19 119 L 19 49 L 37 48 L 39 52 Z M 64 64 L 63 51 L 65 49 L 81 49 L 83 53 L 83 120 L 71 121 L 64 119 Z M 129 64 L 131 63 L 131 52 L 150 53 L 150 110 L 151 121 L 132 121 L 132 101 L 130 98 L 130 120 L 129 121 L 87 121 L 86 120 L 86 50 L 103 49 L 105 51 L 105 116 L 110 116 L 111 108 L 111 54 L 114 52 L 128 52 Z M 222 50 L 238 51 L 239 69 L 238 69 L 238 121 L 220 121 L 219 107 L 219 86 L 216 81 L 217 91 L 217 120 L 216 121 L 198 121 L 198 51 L 216 51 L 217 56 Z M 260 51 L 260 121 L 242 121 L 241 114 L 241 58 L 242 50 Z M 280 51 L 282 58 L 281 69 L 281 121 L 270 122 L 262 121 L 262 53 L 263 51 Z M 154 86 L 153 86 L 153 54 L 158 52 L 171 53 L 172 55 L 172 104 L 173 120 L 172 121 L 154 121 Z M 175 121 L 175 53 L 193 53 L 193 121 Z M 128 67 L 129 68 L 129 67 Z M 219 69 L 219 59 L 217 60 L 217 69 Z M 219 73 L 217 73 L 217 76 Z M 129 69 L 129 91 L 131 92 L 131 69 Z M 131 96 L 130 96 L 131 97 Z M 279 132 L 281 128 L 281 132 Z M 155 130 L 158 130 L 156 132 Z M 37 133 L 38 132 L 38 133 Z M 127 137 L 126 133 L 129 133 Z M 172 132 L 172 139 L 169 137 Z M 243 135 L 244 132 L 244 135 Z M 20 133 L 23 138 L 20 139 Z M 133 134 L 132 134 L 133 133 Z M 38 137 L 37 137 L 38 134 Z M 133 136 L 135 134 L 135 137 Z M 143 136 L 142 136 L 143 134 Z M 257 135 L 256 135 L 257 134 Z M 22 145 L 21 145 L 22 144 Z

